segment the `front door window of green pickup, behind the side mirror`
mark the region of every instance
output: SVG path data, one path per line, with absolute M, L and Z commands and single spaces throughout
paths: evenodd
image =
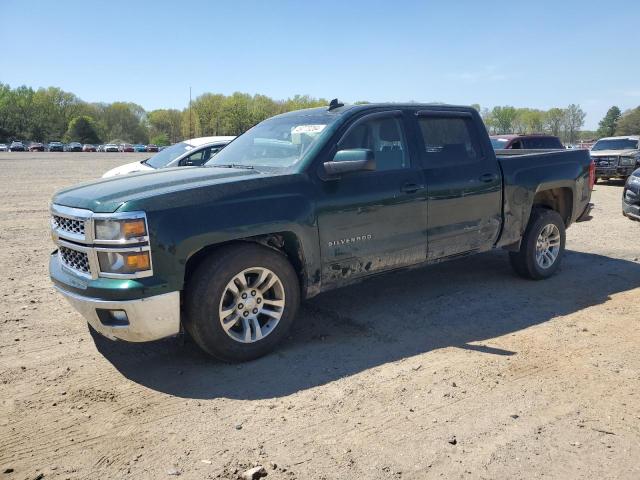
M 396 117 L 364 121 L 340 141 L 340 148 L 373 150 L 376 170 L 397 170 L 409 167 L 409 154 L 402 120 Z

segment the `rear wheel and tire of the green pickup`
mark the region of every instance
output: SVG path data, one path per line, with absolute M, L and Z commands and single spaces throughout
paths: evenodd
M 542 250 L 539 251 L 538 240 L 541 238 L 544 243 Z M 520 243 L 520 250 L 509 252 L 511 266 L 518 275 L 525 278 L 532 280 L 548 278 L 560 267 L 565 242 L 565 226 L 558 212 L 536 207 L 531 211 L 529 224 Z M 544 247 L 547 247 L 546 255 L 542 254 L 545 251 Z M 553 260 L 551 260 L 552 257 Z

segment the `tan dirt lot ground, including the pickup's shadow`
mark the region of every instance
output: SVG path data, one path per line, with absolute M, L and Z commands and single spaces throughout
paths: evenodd
M 51 287 L 51 195 L 135 158 L 0 154 L 0 478 L 640 478 L 640 223 L 621 184 L 596 186 L 550 280 L 504 252 L 391 274 L 224 365 L 94 339 Z

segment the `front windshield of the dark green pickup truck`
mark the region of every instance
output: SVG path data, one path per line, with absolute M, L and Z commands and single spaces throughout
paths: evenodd
M 206 165 L 290 167 L 304 157 L 338 117 L 315 110 L 269 118 L 239 136 Z

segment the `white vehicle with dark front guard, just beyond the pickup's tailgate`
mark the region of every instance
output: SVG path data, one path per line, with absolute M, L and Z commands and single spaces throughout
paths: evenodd
M 606 137 L 591 147 L 596 164 L 596 182 L 600 179 L 627 178 L 640 167 L 640 136 Z

